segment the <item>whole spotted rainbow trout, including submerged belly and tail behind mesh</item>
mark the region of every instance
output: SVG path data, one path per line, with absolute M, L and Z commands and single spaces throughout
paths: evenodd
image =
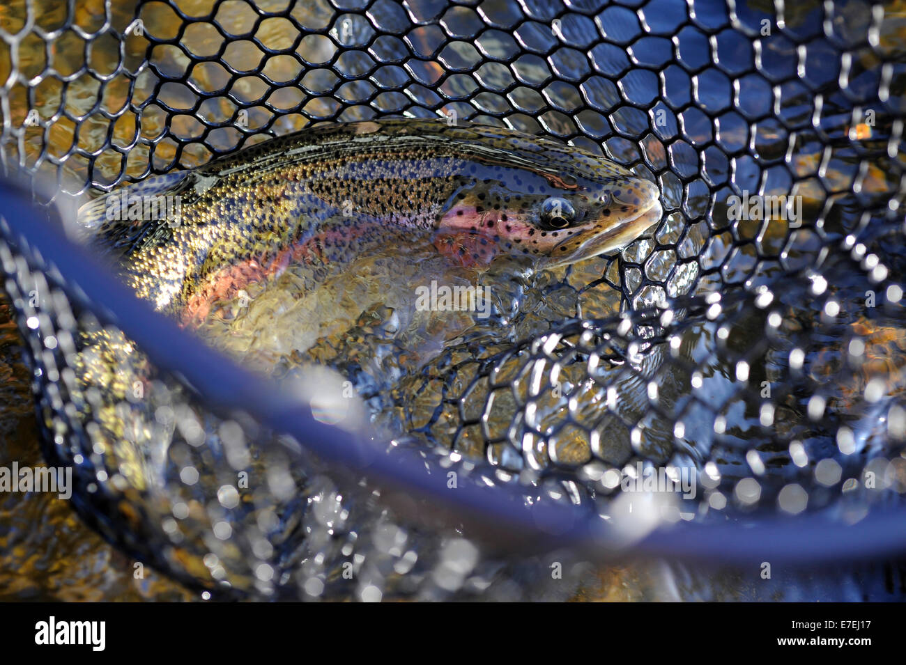
M 305 382 L 321 385 L 312 364 L 338 369 L 372 410 L 450 340 L 496 332 L 435 302 L 444 288 L 499 275 L 506 290 L 511 272 L 615 252 L 660 216 L 658 188 L 610 160 L 436 120 L 306 128 L 101 196 L 79 215 L 155 309 L 277 378 L 307 365 Z M 134 489 L 181 487 L 167 482 L 178 473 L 175 421 L 149 399 L 148 359 L 117 330 L 80 345 L 70 399 L 100 425 L 92 446 L 108 473 Z

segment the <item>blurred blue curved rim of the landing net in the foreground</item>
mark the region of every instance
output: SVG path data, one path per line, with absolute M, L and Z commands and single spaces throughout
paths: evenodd
M 543 502 L 528 508 L 513 500 L 516 492 L 488 488 L 478 479 L 460 482 L 458 490 L 451 492 L 444 474 L 425 472 L 425 458 L 419 451 L 400 450 L 399 455 L 390 456 L 367 437 L 318 421 L 307 404 L 287 398 L 272 382 L 236 365 L 137 299 L 100 261 L 62 233 L 59 204 L 58 200 L 44 214 L 34 205 L 31 188 L 24 181 L 0 180 L 0 236 L 30 259 L 32 270 L 56 276 L 54 281 L 67 297 L 105 323 L 118 326 L 159 369 L 178 375 L 206 407 L 216 413 L 250 414 L 333 467 L 429 500 L 477 527 L 479 533 L 496 534 L 494 539 L 501 543 L 515 538 L 523 551 L 572 546 L 598 560 L 631 553 L 729 564 L 766 559 L 829 563 L 906 551 L 906 529 L 901 528 L 906 508 L 878 508 L 853 524 L 821 513 L 717 524 L 679 521 L 657 527 L 627 545 L 593 511 L 585 510 L 577 518 L 582 507 Z M 549 525 L 569 526 L 554 532 Z

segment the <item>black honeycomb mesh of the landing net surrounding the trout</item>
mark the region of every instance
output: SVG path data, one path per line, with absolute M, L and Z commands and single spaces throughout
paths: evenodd
M 397 434 L 386 454 L 453 470 L 489 505 L 511 491 L 616 525 L 602 552 L 665 524 L 857 526 L 906 490 L 904 33 L 899 3 L 30 0 L 0 7 L 0 155 L 57 184 L 41 204 L 323 121 L 473 121 L 611 157 L 660 186 L 662 222 L 516 294 L 529 305 L 509 343 L 465 340 L 362 391 Z M 740 219 L 733 196 L 782 204 Z M 76 506 L 130 554 L 253 596 L 509 599 L 587 582 L 570 563 L 587 551 L 502 553 L 455 516 L 416 524 L 304 437 L 145 356 L 78 274 L 3 233 L 45 453 L 74 466 Z M 87 352 L 110 354 L 114 376 L 86 370 Z M 651 469 L 688 472 L 695 497 L 628 494 L 622 480 Z M 859 575 L 898 594 L 878 571 Z M 679 595 L 724 597 L 681 579 Z

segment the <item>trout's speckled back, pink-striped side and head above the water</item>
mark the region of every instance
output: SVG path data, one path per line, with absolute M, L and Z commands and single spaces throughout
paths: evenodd
M 402 119 L 306 128 L 103 196 L 80 219 L 141 298 L 198 327 L 291 266 L 311 290 L 389 245 L 458 274 L 501 255 L 548 268 L 613 252 L 660 221 L 659 194 L 575 147 Z

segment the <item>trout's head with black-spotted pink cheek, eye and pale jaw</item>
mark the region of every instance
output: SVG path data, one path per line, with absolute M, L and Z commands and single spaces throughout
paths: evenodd
M 509 138 L 459 176 L 442 229 L 554 267 L 620 250 L 660 222 L 660 191 L 650 180 L 580 148 Z

